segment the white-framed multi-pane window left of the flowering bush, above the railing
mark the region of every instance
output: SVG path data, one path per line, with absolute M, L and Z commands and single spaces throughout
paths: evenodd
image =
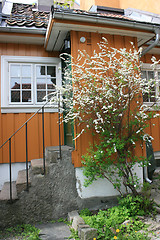
M 43 98 L 61 85 L 60 66 L 59 58 L 2 56 L 2 112 L 33 112 L 42 106 Z

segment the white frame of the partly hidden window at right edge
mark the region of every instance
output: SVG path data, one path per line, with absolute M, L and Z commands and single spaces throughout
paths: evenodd
M 156 68 L 155 69 L 153 69 L 152 68 L 152 66 L 151 66 L 151 64 L 149 64 L 149 63 L 143 63 L 142 64 L 142 68 L 141 68 L 141 70 L 142 71 L 153 71 L 154 73 L 156 73 L 156 72 L 160 72 L 160 65 L 158 64 L 157 66 L 156 66 Z M 155 76 L 155 74 L 154 74 L 154 76 Z M 160 96 L 160 89 L 158 89 L 158 74 L 156 74 L 156 76 L 157 76 L 157 78 L 155 79 L 156 80 L 156 89 L 155 89 L 155 91 L 156 91 L 156 96 L 157 95 L 159 95 Z M 159 79 L 159 82 L 160 82 L 160 79 Z M 159 83 L 160 84 L 160 83 Z M 152 106 L 153 104 L 154 104 L 154 102 L 144 102 L 146 105 L 148 105 L 148 106 Z M 160 106 L 160 102 L 157 102 L 156 103 L 156 106 Z M 152 109 L 151 109 L 152 110 Z

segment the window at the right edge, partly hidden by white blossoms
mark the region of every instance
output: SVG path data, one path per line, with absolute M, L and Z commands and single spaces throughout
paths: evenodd
M 142 78 L 148 80 L 153 79 L 150 82 L 149 93 L 143 95 L 143 102 L 147 104 L 153 104 L 160 97 L 160 68 L 157 67 L 154 71 L 151 69 L 150 64 L 143 64 Z

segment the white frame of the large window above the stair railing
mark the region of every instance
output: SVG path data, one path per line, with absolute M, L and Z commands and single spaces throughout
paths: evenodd
M 31 91 L 33 102 L 17 102 L 10 101 L 10 83 L 9 83 L 9 64 L 32 64 Z M 33 64 L 35 69 L 33 69 Z M 37 102 L 37 88 L 35 79 L 36 65 L 54 65 L 56 66 L 56 85 L 62 85 L 61 60 L 54 57 L 26 57 L 26 56 L 1 56 L 1 112 L 2 113 L 20 113 L 35 112 L 45 102 Z M 46 105 L 46 112 L 57 112 L 57 105 Z

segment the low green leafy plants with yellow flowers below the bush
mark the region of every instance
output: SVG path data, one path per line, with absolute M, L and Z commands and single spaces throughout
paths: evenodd
M 105 211 L 99 210 L 96 215 L 88 215 L 88 210 L 84 209 L 81 216 L 86 224 L 97 229 L 97 239 L 149 240 L 148 226 L 137 217 L 139 214 L 146 214 L 144 208 L 148 203 L 142 206 L 143 203 L 144 199 L 140 196 L 128 195 L 119 199 L 118 206 Z

